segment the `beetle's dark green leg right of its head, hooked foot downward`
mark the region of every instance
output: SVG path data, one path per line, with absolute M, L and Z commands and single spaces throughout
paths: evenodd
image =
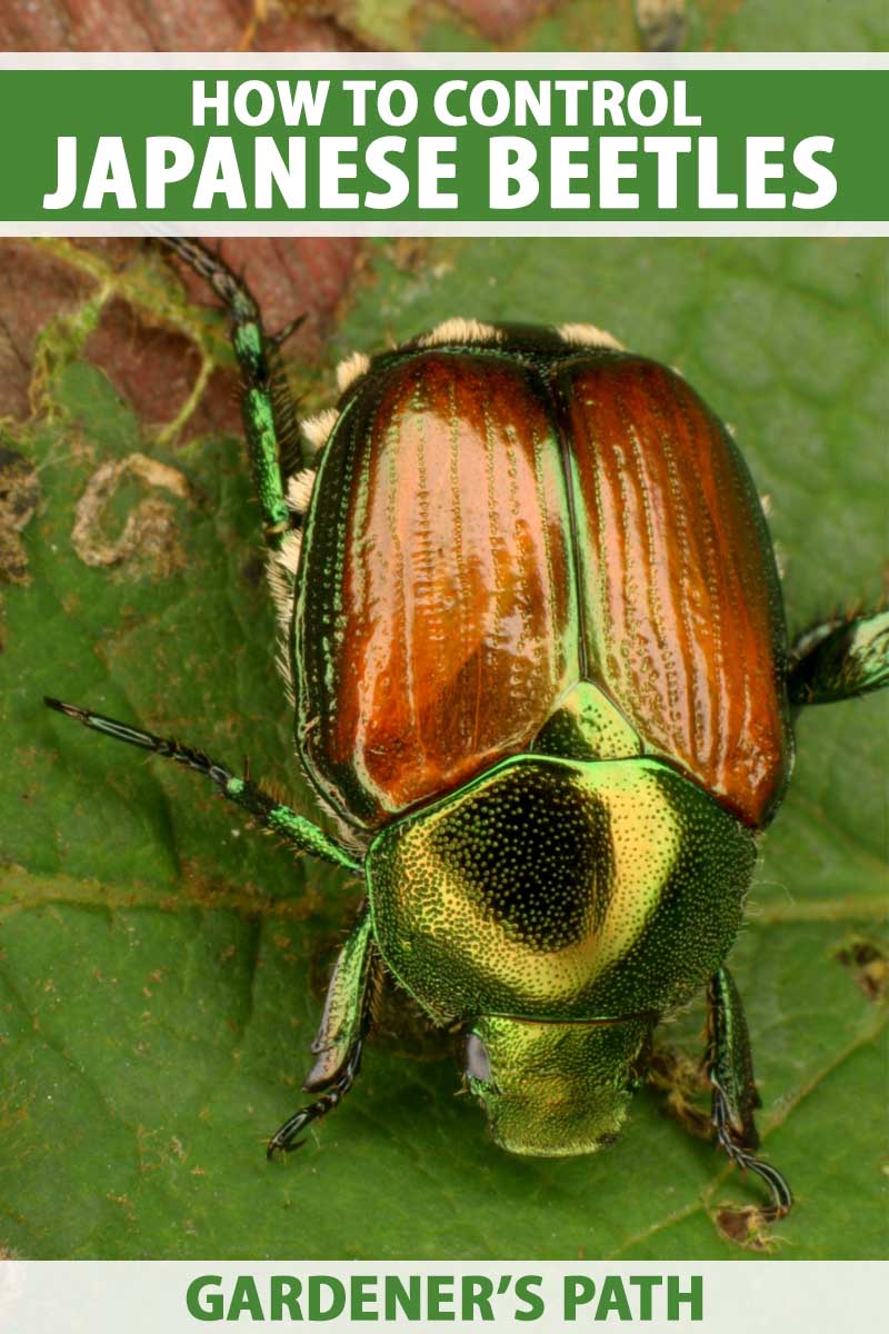
M 772 1193 L 769 1219 L 781 1218 L 793 1205 L 786 1181 L 769 1163 L 756 1158 L 760 1137 L 753 1113 L 761 1106 L 753 1078 L 750 1037 L 741 996 L 728 968 L 718 968 L 708 990 L 708 1074 L 713 1089 L 712 1121 L 716 1138 L 733 1163 L 761 1177 Z

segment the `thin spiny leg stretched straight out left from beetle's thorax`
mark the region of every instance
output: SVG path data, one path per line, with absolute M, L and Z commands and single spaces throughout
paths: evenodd
M 257 824 L 279 834 L 301 852 L 333 862 L 335 866 L 343 866 L 349 871 L 360 870 L 355 858 L 339 843 L 335 843 L 317 824 L 307 820 L 304 815 L 297 815 L 289 806 L 281 806 L 249 778 L 237 778 L 224 764 L 209 759 L 203 751 L 195 750 L 192 746 L 183 746 L 172 736 L 156 736 L 153 732 L 129 727 L 127 723 L 107 718 L 104 714 L 93 714 L 85 708 L 77 708 L 75 704 L 63 704 L 59 699 L 44 698 L 44 703 L 48 708 L 55 708 L 56 712 L 64 714 L 67 718 L 77 719 L 95 732 L 103 732 L 115 740 L 137 746 L 140 750 L 151 751 L 163 759 L 172 759 L 177 764 L 184 764 L 187 768 L 203 774 L 204 778 L 209 778 L 211 783 L 216 784 L 223 796 L 248 811 Z

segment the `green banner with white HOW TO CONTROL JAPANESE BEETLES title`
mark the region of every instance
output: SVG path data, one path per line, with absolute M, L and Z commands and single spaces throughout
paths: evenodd
M 5 68 L 0 225 L 880 223 L 888 93 L 869 68 Z

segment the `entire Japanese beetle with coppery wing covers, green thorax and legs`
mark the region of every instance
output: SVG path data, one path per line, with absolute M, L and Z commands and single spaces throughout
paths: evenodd
M 889 682 L 889 614 L 789 655 L 772 543 L 732 438 L 677 374 L 590 325 L 450 320 L 340 367 L 304 423 L 280 338 L 227 303 L 300 762 L 337 838 L 197 750 L 57 700 L 209 778 L 363 876 L 305 1090 L 269 1155 L 351 1089 L 385 972 L 466 1034 L 469 1087 L 518 1154 L 616 1137 L 661 1018 L 706 987 L 716 1137 L 754 1158 L 758 1097 L 724 966 L 793 762 L 790 708 Z

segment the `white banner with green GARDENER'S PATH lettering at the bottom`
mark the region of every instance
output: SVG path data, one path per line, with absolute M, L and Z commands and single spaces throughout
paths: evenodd
M 209 1323 L 448 1322 L 454 1331 L 640 1326 L 698 1334 L 837 1334 L 881 1322 L 889 1263 L 614 1265 L 23 1262 L 0 1265 L 0 1330 L 195 1334 Z

